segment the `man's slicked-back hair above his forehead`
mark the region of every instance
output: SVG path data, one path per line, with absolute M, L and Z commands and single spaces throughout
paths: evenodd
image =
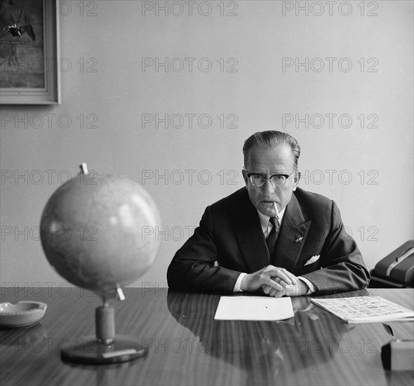
M 270 147 L 276 147 L 277 145 L 288 145 L 291 147 L 293 166 L 295 170 L 298 170 L 298 160 L 300 157 L 300 146 L 298 141 L 288 133 L 282 133 L 281 131 L 275 130 L 258 131 L 247 138 L 243 145 L 244 164 L 246 165 L 247 163 L 248 151 L 252 147 L 269 149 Z

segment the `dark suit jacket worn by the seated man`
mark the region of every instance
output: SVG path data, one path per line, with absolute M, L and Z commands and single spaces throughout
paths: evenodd
M 320 255 L 319 260 L 305 265 L 314 255 Z M 368 271 L 354 239 L 345 232 L 338 206 L 320 194 L 300 188 L 292 194 L 275 256 L 278 267 L 312 281 L 316 294 L 368 285 Z M 274 263 L 272 259 L 258 212 L 243 187 L 206 208 L 199 227 L 168 267 L 168 286 L 232 293 L 241 272 L 256 272 Z

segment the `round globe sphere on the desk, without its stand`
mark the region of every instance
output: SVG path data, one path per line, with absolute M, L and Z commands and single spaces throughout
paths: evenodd
M 41 216 L 41 245 L 62 277 L 102 296 L 151 267 L 159 211 L 147 191 L 121 175 L 81 173 L 60 186 Z

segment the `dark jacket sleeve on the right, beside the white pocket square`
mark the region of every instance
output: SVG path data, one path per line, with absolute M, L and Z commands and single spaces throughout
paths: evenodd
M 302 275 L 316 286 L 315 295 L 354 291 L 368 285 L 369 273 L 356 242 L 345 231 L 332 201 L 330 229 L 321 252 L 322 269 Z

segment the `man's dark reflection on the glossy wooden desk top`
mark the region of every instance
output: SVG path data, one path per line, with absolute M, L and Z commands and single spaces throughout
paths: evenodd
M 203 302 L 213 310 L 206 313 L 199 295 L 168 291 L 167 296 L 174 319 L 199 338 L 204 352 L 246 371 L 246 385 L 288 383 L 293 371 L 330 361 L 352 329 L 307 297 L 292 298 L 295 317 L 283 321 L 216 321 L 219 300 Z

